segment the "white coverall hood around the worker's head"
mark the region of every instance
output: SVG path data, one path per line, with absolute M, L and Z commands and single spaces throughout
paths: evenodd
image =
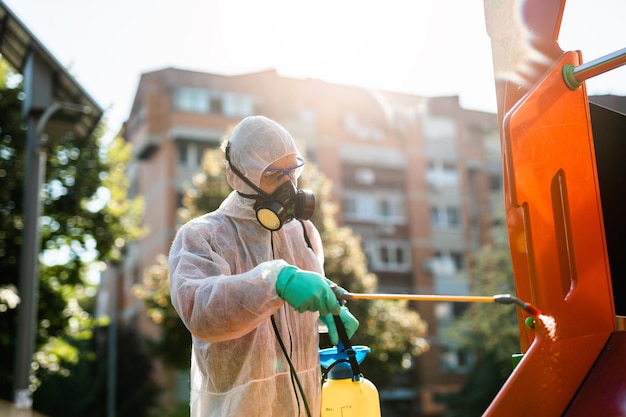
M 264 116 L 249 116 L 243 119 L 235 126 L 228 142 L 230 143 L 230 163 L 256 186 L 259 186 L 261 182 L 263 171 L 277 160 L 287 155 L 301 157 L 289 132 L 280 124 Z M 226 144 L 224 148 L 225 146 Z M 235 191 L 243 194 L 257 194 L 256 190 L 230 169 L 228 163 L 226 179 Z M 253 199 L 233 192 L 220 209 L 226 210 L 231 216 L 255 218 L 254 202 Z

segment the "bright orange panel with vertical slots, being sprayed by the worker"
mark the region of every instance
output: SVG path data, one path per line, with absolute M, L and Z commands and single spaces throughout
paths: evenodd
M 556 331 L 529 331 L 526 356 L 486 415 L 561 415 L 615 330 L 586 91 L 561 76 L 578 62 L 563 54 L 503 123 L 517 293 Z

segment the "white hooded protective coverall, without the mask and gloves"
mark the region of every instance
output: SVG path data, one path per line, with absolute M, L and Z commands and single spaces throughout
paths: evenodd
M 244 119 L 230 138 L 232 164 L 257 185 L 265 168 L 289 154 L 299 156 L 289 133 L 262 116 Z M 227 179 L 256 194 L 228 168 Z M 191 416 L 306 416 L 271 316 L 311 415 L 319 416 L 318 313 L 298 313 L 275 290 L 288 264 L 323 275 L 319 232 L 309 221 L 270 232 L 256 220 L 254 200 L 236 191 L 182 226 L 169 254 L 172 304 L 192 334 Z

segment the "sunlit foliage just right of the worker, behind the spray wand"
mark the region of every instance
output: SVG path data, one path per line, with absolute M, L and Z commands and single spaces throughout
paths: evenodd
M 330 201 L 332 183 L 313 164 L 298 183 L 315 192 L 317 207 L 313 223 L 324 244 L 326 276 L 354 293 L 373 293 L 378 278 L 367 269 L 367 259 L 360 239 L 348 227 L 339 227 L 334 219 L 336 205 Z M 364 374 L 379 388 L 392 382 L 394 375 L 405 372 L 407 355 L 417 356 L 428 349 L 424 339 L 427 324 L 409 308 L 407 301 L 355 300 L 348 304 L 360 326 L 351 342 L 369 346 L 371 353 L 363 362 Z M 323 346 L 330 346 L 327 337 Z

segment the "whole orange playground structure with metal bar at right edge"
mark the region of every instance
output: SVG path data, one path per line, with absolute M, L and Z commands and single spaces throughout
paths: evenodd
M 518 310 L 524 356 L 484 415 L 626 416 L 626 116 L 585 87 L 626 49 L 562 51 L 565 0 L 484 5 L 516 295 L 549 316 Z

